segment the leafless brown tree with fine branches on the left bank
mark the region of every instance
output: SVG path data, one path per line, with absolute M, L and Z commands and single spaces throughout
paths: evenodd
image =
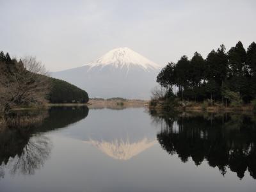
M 42 105 L 49 92 L 49 77 L 34 57 L 0 63 L 0 108 L 4 113 L 17 105 Z M 0 109 L 0 110 L 1 110 Z M 1 111 L 0 111 L 1 112 Z

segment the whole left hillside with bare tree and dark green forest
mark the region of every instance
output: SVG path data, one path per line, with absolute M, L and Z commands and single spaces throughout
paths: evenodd
M 36 58 L 17 61 L 0 52 L 0 113 L 17 106 L 44 106 L 47 102 L 88 102 L 88 94 L 76 86 L 47 76 Z

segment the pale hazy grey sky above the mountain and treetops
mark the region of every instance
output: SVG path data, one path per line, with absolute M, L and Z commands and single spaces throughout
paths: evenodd
M 51 70 L 79 67 L 116 47 L 166 65 L 195 51 L 256 41 L 256 1 L 0 0 L 0 50 Z

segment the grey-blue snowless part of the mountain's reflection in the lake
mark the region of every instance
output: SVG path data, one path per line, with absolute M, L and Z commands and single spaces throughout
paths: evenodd
M 150 124 L 150 116 L 144 108 L 109 110 L 90 109 L 88 118 L 65 129 L 61 134 L 88 141 L 129 141 L 155 140 L 156 127 Z

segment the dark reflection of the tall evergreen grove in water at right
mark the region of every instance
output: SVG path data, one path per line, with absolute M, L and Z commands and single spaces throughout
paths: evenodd
M 225 175 L 227 168 L 242 179 L 248 170 L 256 179 L 256 124 L 253 116 L 157 116 L 157 140 L 182 162 L 191 157 L 198 166 L 207 160 Z

